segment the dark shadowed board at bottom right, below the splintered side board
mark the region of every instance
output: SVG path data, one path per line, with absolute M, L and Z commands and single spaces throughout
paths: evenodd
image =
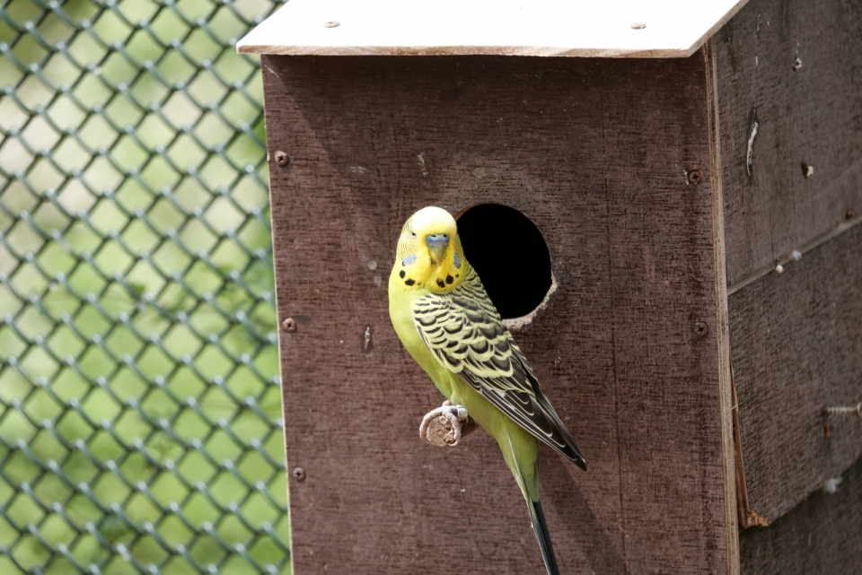
M 862 459 L 838 491 L 814 492 L 770 527 L 740 536 L 744 575 L 858 573 L 862 566 Z

